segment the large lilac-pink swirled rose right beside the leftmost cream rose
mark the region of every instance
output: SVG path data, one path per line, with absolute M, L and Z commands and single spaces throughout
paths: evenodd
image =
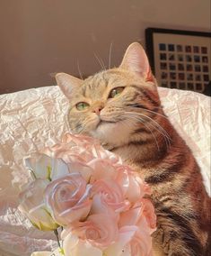
M 84 220 L 91 209 L 90 186 L 79 173 L 70 173 L 48 184 L 45 202 L 56 222 L 61 225 Z

